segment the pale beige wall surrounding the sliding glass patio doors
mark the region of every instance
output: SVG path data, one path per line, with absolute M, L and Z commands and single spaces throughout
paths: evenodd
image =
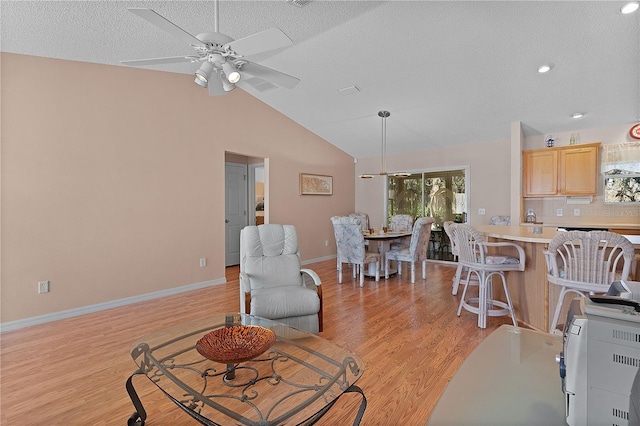
M 493 215 L 509 215 L 510 141 L 457 145 L 419 152 L 387 155 L 389 172 L 469 167 L 469 222 L 486 224 Z M 380 157 L 359 158 L 356 176 L 380 171 Z M 356 177 L 356 210 L 369 214 L 374 227 L 384 219 L 385 179 Z M 484 208 L 485 215 L 478 215 Z

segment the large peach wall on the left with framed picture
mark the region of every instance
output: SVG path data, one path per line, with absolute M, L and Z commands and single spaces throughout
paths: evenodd
M 225 151 L 266 159 L 270 221 L 296 225 L 303 260 L 335 254 L 328 218 L 354 208 L 353 159 L 246 92 L 1 59 L 3 323 L 224 280 Z M 332 175 L 334 195 L 300 196 L 300 172 Z

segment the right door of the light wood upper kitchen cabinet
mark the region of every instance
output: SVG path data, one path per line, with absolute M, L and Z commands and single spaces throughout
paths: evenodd
M 563 149 L 559 158 L 562 195 L 596 195 L 598 192 L 598 147 Z

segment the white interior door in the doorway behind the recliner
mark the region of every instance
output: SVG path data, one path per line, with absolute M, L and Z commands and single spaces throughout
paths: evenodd
M 240 264 L 240 230 L 247 225 L 247 165 L 225 163 L 225 266 Z

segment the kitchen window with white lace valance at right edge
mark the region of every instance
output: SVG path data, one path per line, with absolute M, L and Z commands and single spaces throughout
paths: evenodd
M 640 203 L 640 142 L 602 147 L 604 202 Z

